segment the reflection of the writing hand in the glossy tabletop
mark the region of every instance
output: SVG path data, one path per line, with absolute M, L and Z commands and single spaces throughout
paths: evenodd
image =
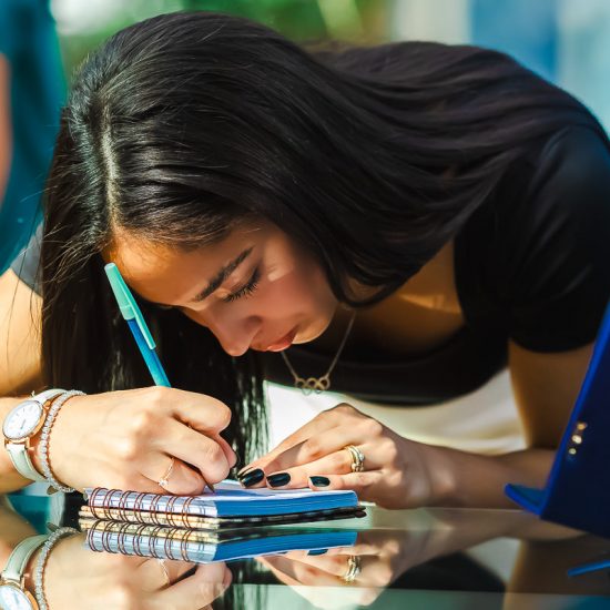
M 197 610 L 231 583 L 224 563 L 194 563 L 94 552 L 84 535 L 60 540 L 49 553 L 44 593 L 50 610 Z

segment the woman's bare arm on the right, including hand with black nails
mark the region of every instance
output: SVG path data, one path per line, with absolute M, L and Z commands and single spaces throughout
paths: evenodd
M 528 441 L 525 450 L 480 456 L 424 445 L 340 405 L 323 411 L 246 467 L 242 482 L 264 486 L 262 469 L 270 487 L 355 489 L 362 499 L 387 508 L 514 508 L 505 485 L 543 486 L 591 353 L 592 344 L 557 354 L 536 354 L 510 344 L 510 375 Z M 346 445 L 362 447 L 364 472 L 350 472 Z

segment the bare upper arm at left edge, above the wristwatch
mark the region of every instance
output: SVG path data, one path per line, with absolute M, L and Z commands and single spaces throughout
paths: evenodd
M 0 396 L 41 385 L 42 299 L 12 270 L 0 275 Z

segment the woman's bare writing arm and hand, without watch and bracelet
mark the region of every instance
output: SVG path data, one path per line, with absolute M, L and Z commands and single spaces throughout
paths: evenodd
M 41 388 L 41 299 L 12 271 L 0 276 L 0 417 Z M 199 494 L 226 477 L 235 454 L 220 433 L 228 407 L 211 397 L 172 388 L 139 388 L 71 398 L 51 435 L 57 478 L 87 486 Z M 41 471 L 34 447 L 32 461 Z M 174 458 L 170 485 L 157 481 Z M 3 446 L 0 492 L 24 487 Z

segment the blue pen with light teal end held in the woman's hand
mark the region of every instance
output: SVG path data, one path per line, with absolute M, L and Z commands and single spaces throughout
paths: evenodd
M 119 267 L 114 263 L 109 263 L 104 267 L 108 279 L 112 287 L 112 292 L 119 303 L 121 314 L 125 318 L 129 327 L 135 338 L 135 343 L 142 353 L 144 362 L 151 372 L 152 378 L 156 386 L 172 387 L 167 379 L 167 375 L 163 370 L 161 360 L 154 350 L 155 344 L 152 338 L 151 332 L 144 322 L 144 316 L 135 303 L 135 298 L 128 288 Z

